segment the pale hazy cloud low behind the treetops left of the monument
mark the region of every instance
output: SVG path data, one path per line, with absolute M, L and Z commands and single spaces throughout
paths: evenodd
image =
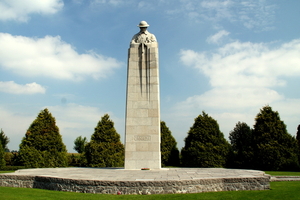
M 73 150 L 74 140 L 83 136 L 90 140 L 101 117 L 107 113 L 100 111 L 99 108 L 91 106 L 83 106 L 78 104 L 65 104 L 61 106 L 45 106 L 56 119 L 56 125 L 63 137 L 63 142 L 67 146 L 69 152 Z M 0 106 L 0 129 L 10 138 L 8 148 L 10 150 L 18 150 L 22 137 L 25 136 L 26 130 L 30 124 L 36 119 L 38 113 L 44 108 L 36 110 L 30 108 L 28 111 L 13 111 L 13 109 Z M 110 119 L 115 122 L 115 128 L 124 140 L 124 119 L 118 119 L 109 113 Z M 119 132 L 121 130 L 121 132 Z

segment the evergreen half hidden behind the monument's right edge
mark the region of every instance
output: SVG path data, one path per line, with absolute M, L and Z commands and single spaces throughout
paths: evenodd
M 161 163 L 163 166 L 179 166 L 177 142 L 164 121 L 160 122 Z

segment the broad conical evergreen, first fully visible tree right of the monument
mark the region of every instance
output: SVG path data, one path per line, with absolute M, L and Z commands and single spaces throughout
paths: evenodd
M 229 151 L 230 145 L 217 121 L 202 112 L 185 138 L 181 150 L 182 164 L 187 167 L 224 167 Z

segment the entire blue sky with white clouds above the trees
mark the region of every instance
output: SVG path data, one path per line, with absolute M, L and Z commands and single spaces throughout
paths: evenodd
M 0 128 L 18 150 L 48 108 L 74 152 L 108 113 L 124 142 L 127 50 L 145 20 L 159 43 L 161 120 L 184 145 L 202 111 L 228 139 L 278 111 L 300 123 L 300 1 L 0 0 Z

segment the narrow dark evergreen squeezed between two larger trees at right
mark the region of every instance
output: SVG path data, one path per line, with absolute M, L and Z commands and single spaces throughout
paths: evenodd
M 238 122 L 235 128 L 229 133 L 229 139 L 233 151 L 232 167 L 252 168 L 252 130 L 244 122 Z

